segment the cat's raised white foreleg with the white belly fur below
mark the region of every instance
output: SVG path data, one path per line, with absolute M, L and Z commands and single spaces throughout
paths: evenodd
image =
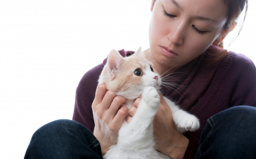
M 142 100 L 129 123 L 124 121 L 118 142 L 105 154 L 106 159 L 164 159 L 168 156 L 155 150 L 152 121 L 158 111 L 160 97 L 154 87 L 144 89 Z

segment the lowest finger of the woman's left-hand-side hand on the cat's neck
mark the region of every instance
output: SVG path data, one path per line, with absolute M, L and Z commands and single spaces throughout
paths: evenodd
M 127 106 L 122 105 L 121 108 L 117 111 L 117 114 L 115 115 L 115 117 L 113 118 L 112 124 L 111 126 L 109 126 L 109 129 L 114 127 L 114 130 L 118 131 L 121 127 L 123 119 L 126 116 L 127 111 L 128 111 Z

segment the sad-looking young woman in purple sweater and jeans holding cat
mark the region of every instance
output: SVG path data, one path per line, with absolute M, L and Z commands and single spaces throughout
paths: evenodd
M 150 48 L 144 53 L 160 75 L 176 79 L 172 89 L 163 88 L 163 95 L 196 115 L 201 125 L 195 132 L 179 133 L 161 100 L 154 119 L 158 151 L 171 158 L 256 157 L 256 68 L 245 56 L 215 46 L 236 26 L 244 9 L 246 0 L 152 0 Z M 36 131 L 25 158 L 102 158 L 115 144 L 128 110 L 120 107 L 125 98 L 104 84 L 97 87 L 103 67 L 92 68 L 81 79 L 74 121 L 55 121 Z M 102 137 L 104 132 L 94 129 L 92 109 L 101 110 L 111 134 Z

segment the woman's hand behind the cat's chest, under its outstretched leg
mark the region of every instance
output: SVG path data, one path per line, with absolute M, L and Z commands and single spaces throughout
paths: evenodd
M 189 140 L 175 128 L 174 119 L 169 106 L 164 101 L 162 94 L 160 94 L 160 104 L 158 112 L 154 118 L 154 137 L 156 141 L 156 148 L 158 151 L 168 155 L 169 157 L 183 158 L 188 147 Z M 129 110 L 129 116 L 126 121 L 129 122 L 135 114 L 141 97 L 138 98 L 133 107 Z

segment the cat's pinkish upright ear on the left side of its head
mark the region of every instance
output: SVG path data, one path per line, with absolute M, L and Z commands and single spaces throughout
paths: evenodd
M 125 59 L 118 53 L 117 50 L 111 50 L 109 53 L 107 66 L 108 66 L 108 72 L 110 74 L 115 74 L 115 71 L 117 68 L 123 63 Z

